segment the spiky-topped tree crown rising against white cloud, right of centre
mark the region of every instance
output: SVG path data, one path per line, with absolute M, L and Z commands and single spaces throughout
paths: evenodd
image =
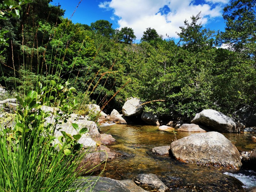
M 198 51 L 200 49 L 208 49 L 213 46 L 213 34 L 215 31 L 210 29 L 202 29 L 202 22 L 198 24 L 201 19 L 199 12 L 196 16 L 192 15 L 191 23 L 188 20 L 184 21 L 185 27 L 180 27 L 181 32 L 177 33 L 180 36 L 180 44 L 189 51 Z

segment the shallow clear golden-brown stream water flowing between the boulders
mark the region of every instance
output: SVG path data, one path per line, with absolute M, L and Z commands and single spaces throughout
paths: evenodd
M 120 155 L 106 164 L 102 176 L 123 180 L 134 179 L 140 173 L 153 173 L 171 191 L 245 191 L 256 186 L 253 171 L 186 164 L 169 156 L 152 154 L 150 149 L 170 145 L 175 140 L 173 132 L 160 131 L 158 126 L 114 124 L 100 129 L 116 139 L 108 147 Z M 177 132 L 176 137 L 180 139 L 190 134 L 194 133 Z M 223 134 L 238 150 L 251 151 L 256 146 L 252 141 L 255 134 Z

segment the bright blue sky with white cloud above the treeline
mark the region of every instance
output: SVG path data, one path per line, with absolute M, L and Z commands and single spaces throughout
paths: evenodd
M 192 15 L 197 15 L 200 11 L 203 27 L 224 31 L 222 10 L 228 2 L 229 0 L 52 0 L 51 4 L 60 4 L 66 10 L 64 17 L 71 19 L 73 23 L 91 25 L 97 20 L 108 20 L 114 29 L 132 28 L 138 42 L 143 31 L 149 27 L 156 29 L 164 38 L 167 38 L 167 34 L 178 39 L 176 32 L 180 32 L 179 27 L 184 26 L 184 20 L 189 21 Z

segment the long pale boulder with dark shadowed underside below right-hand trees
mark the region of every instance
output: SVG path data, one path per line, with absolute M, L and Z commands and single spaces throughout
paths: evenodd
M 191 123 L 202 124 L 217 132 L 240 132 L 238 124 L 233 119 L 213 109 L 205 109 L 196 114 Z

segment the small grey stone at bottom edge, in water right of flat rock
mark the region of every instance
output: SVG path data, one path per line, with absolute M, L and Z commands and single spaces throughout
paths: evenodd
M 166 185 L 154 174 L 139 174 L 136 177 L 136 180 L 140 182 L 140 184 L 148 185 L 152 188 L 157 189 L 159 192 L 165 192 L 168 189 Z

